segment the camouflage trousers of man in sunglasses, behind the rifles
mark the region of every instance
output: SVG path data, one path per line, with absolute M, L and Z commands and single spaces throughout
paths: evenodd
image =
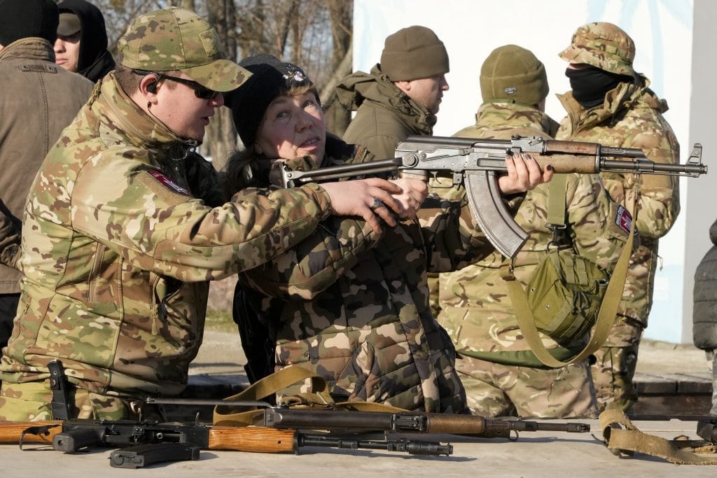
M 74 398 L 71 419 L 136 420 L 136 403 L 116 396 L 100 395 L 82 388 L 73 388 Z M 0 420 L 41 421 L 52 420 L 52 392 L 47 381 L 9 383 L 0 388 Z M 155 414 L 151 418 L 156 419 Z M 143 413 L 143 418 L 149 418 Z

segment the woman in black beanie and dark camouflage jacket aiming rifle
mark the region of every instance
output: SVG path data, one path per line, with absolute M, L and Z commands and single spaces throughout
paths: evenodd
M 374 158 L 326 133 L 318 92 L 298 66 L 267 54 L 239 64 L 252 77 L 226 99 L 244 143 L 227 164 L 233 201 L 280 188 L 280 167 L 311 170 Z M 534 187 L 540 171 L 530 163 L 521 171 Z M 426 272 L 462 267 L 494 249 L 467 201 L 429 199 L 417 219 L 425 183 L 394 181 L 404 206 L 394 228 L 377 233 L 361 218 L 331 216 L 294 249 L 239 274 L 234 320 L 250 381 L 299 366 L 322 376 L 336 401 L 467 412 L 455 349 L 428 307 Z

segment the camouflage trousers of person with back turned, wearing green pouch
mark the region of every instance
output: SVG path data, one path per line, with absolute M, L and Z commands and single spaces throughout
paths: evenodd
M 464 356 L 456 369 L 468 406 L 481 416 L 597 418 L 589 365 L 541 369 L 501 365 Z

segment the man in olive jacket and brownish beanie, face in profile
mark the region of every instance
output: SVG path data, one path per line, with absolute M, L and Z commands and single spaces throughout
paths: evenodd
M 443 92 L 448 54 L 432 29 L 413 26 L 386 37 L 381 62 L 371 73 L 355 72 L 338 87 L 338 100 L 356 117 L 343 140 L 393 158 L 409 135 L 432 135 Z

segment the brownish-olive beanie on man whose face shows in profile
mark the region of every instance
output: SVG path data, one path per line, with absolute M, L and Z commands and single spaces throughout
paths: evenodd
M 381 71 L 391 81 L 410 81 L 449 72 L 448 53 L 432 29 L 407 27 L 386 37 Z

